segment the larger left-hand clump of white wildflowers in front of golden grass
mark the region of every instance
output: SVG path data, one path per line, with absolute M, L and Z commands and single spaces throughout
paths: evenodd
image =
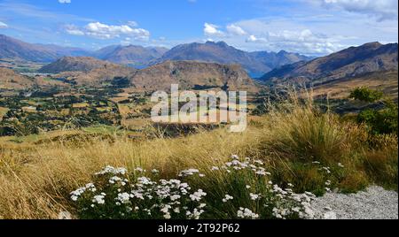
M 134 170 L 135 176 L 145 172 L 142 168 Z M 158 171 L 153 170 L 152 173 L 157 174 Z M 192 169 L 182 173 L 185 176 L 200 172 Z M 100 207 L 105 206 L 106 209 L 118 213 L 117 218 L 198 219 L 205 211 L 206 204 L 200 201 L 207 193 L 202 189 L 192 192 L 192 187 L 181 180 L 155 181 L 143 176 L 137 178 L 134 184 L 130 184 L 127 170 L 112 166 L 97 172 L 96 177 L 100 184 L 97 188 L 90 183 L 71 193 L 72 200 L 82 203 L 82 210 L 92 211 L 95 217 L 110 215 L 96 212 L 104 210 Z M 81 200 L 80 197 L 84 198 Z M 88 203 L 90 207 L 85 206 Z

